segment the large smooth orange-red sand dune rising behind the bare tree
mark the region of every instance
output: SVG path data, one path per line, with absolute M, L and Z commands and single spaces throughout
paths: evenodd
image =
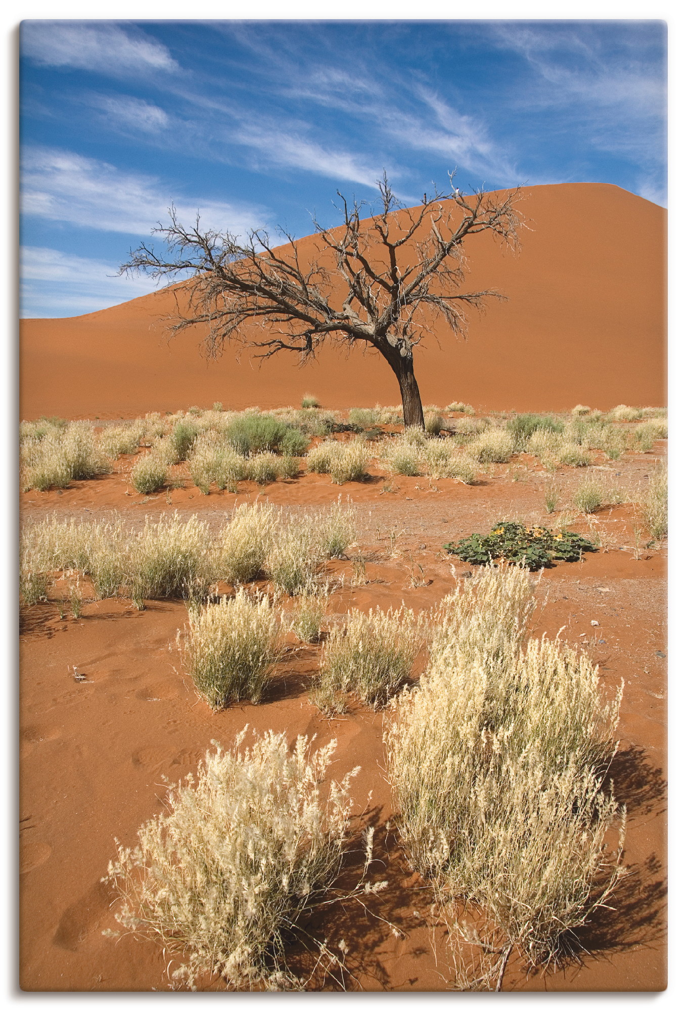
M 489 236 L 466 246 L 468 289 L 496 288 L 474 313 L 468 341 L 446 325 L 416 349 L 425 403 L 467 400 L 485 409 L 564 410 L 582 402 L 665 403 L 666 211 L 597 183 L 533 186 L 520 207 L 531 231 L 518 255 Z M 310 238 L 300 244 L 311 244 Z M 327 349 L 299 368 L 290 358 L 262 365 L 233 350 L 207 362 L 201 334 L 168 345 L 161 291 L 100 312 L 21 325 L 21 416 L 134 417 L 191 404 L 296 404 L 305 391 L 329 407 L 400 400 L 374 352 Z

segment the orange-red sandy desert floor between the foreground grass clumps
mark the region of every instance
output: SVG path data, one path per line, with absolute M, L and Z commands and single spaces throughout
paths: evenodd
M 596 464 L 618 484 L 641 488 L 665 448 L 659 442 L 653 453 Z M 64 491 L 22 493 L 22 521 L 53 513 L 105 517 L 116 510 L 136 526 L 145 516 L 178 510 L 214 526 L 236 502 L 259 494 L 295 510 L 340 494 L 357 510 L 360 536 L 348 560 L 327 566 L 331 580 L 338 580 L 330 610 L 339 613 L 401 601 L 429 608 L 471 571 L 441 550 L 447 541 L 486 533 L 504 516 L 551 521 L 544 507 L 547 475 L 526 457 L 493 466 L 474 486 L 425 477 L 390 480 L 373 468 L 368 480 L 342 487 L 326 475 L 302 474 L 265 489 L 209 495 L 187 481 L 184 488 L 142 496 L 128 482 L 130 465 L 131 458 L 121 458 L 113 474 Z M 580 477 L 572 468 L 559 472 L 564 498 Z M 637 532 L 636 543 L 639 523 L 631 505 L 597 513 L 593 525 L 605 550 L 545 570 L 532 622 L 535 635 L 555 637 L 563 630 L 562 638 L 583 644 L 609 692 L 624 679 L 611 775 L 627 807 L 624 860 L 632 874 L 621 883 L 613 909 L 590 924 L 579 963 L 527 976 L 513 960 L 505 990 L 653 991 L 666 984 L 666 551 L 645 549 L 646 531 Z M 588 531 L 585 521 L 574 527 Z M 154 943 L 103 936 L 117 923 L 113 895 L 101 879 L 115 854 L 115 837 L 134 844 L 138 826 L 163 810 L 164 777 L 177 782 L 195 771 L 212 740 L 229 745 L 249 724 L 258 731 L 287 730 L 290 740 L 303 733 L 317 734 L 320 743 L 335 737 L 336 774 L 362 766 L 354 780 L 357 814 L 361 825 L 376 826 L 379 862 L 372 878 L 388 879 L 390 886 L 371 902 L 370 914 L 357 904 L 334 906 L 312 924 L 315 936 L 332 943 L 345 938 L 349 989 L 446 990 L 449 972 L 441 932 L 432 929 L 429 892 L 394 836 L 384 711 L 354 705 L 340 718 L 324 718 L 308 702 L 318 647 L 293 639 L 262 704 L 213 714 L 180 667 L 174 643 L 186 615 L 185 605 L 172 601 L 151 602 L 142 612 L 126 601 L 92 602 L 78 619 L 69 612 L 62 619 L 55 601 L 22 609 L 22 988 L 169 989 L 167 959 Z M 75 678 L 75 669 L 84 680 Z M 373 913 L 395 923 L 403 936 L 395 938 Z

